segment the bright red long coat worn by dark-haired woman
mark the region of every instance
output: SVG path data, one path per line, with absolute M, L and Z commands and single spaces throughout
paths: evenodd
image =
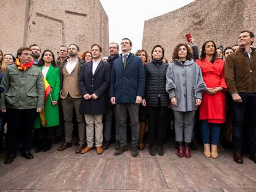
M 209 123 L 224 123 L 226 120 L 226 94 L 228 86 L 224 80 L 224 61 L 215 59 L 212 64 L 205 59 L 198 59 L 196 63 L 201 67 L 203 81 L 207 88 L 222 87 L 223 91 L 216 94 L 203 93 L 202 104 L 200 106 L 199 119 L 207 119 Z

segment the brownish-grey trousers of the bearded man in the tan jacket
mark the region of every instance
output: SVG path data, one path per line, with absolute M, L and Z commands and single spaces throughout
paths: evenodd
M 70 95 L 66 99 L 62 99 L 62 109 L 64 115 L 64 127 L 65 127 L 65 142 L 72 143 L 72 131 L 73 131 L 73 106 L 75 108 L 75 115 L 77 116 L 77 123 L 79 129 L 79 144 L 85 144 L 85 119 L 83 114 L 79 112 L 81 99 L 74 99 Z

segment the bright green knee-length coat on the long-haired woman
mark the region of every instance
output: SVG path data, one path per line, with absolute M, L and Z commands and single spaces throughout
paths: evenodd
M 40 69 L 42 70 L 44 66 L 41 66 Z M 51 86 L 51 98 L 53 101 L 59 100 L 59 68 L 53 67 L 50 65 L 49 70 L 46 74 L 46 80 L 48 81 L 49 85 Z M 45 119 L 46 119 L 46 126 L 43 127 L 53 127 L 59 125 L 59 105 L 56 104 L 53 106 L 51 104 L 51 98 L 48 95 L 46 98 L 45 104 Z M 36 114 L 34 128 L 41 127 L 41 120 L 39 113 Z

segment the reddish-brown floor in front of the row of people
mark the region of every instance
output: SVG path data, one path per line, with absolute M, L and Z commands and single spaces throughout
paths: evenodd
M 59 146 L 38 154 L 32 149 L 32 160 L 18 153 L 9 165 L 2 152 L 0 191 L 256 191 L 256 164 L 248 157 L 236 164 L 231 151 L 207 159 L 199 146 L 190 159 L 181 159 L 173 144 L 163 157 L 151 157 L 148 148 L 132 157 L 130 151 L 114 156 L 113 145 L 101 155 L 94 149 L 75 154 L 75 146 L 58 152 Z

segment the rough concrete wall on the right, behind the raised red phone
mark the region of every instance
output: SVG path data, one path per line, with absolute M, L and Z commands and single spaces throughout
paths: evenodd
M 255 0 L 196 0 L 145 21 L 142 48 L 151 52 L 153 46 L 161 44 L 171 59 L 174 47 L 187 42 L 187 33 L 201 49 L 206 40 L 215 41 L 217 46 L 233 46 L 244 29 L 256 34 Z

